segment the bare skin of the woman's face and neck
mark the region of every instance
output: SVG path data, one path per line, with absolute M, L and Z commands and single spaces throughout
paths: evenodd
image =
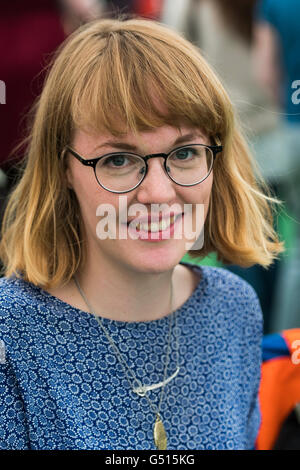
M 168 153 L 175 140 L 183 135 L 193 134 L 180 145 L 198 143 L 209 144 L 200 130 L 182 125 L 180 131 L 163 126 L 138 136 L 124 135 L 121 138 L 111 134 L 92 135 L 77 130 L 72 147 L 84 158 L 95 158 L 117 151 L 107 141 L 124 142 L 135 145 L 135 153 Z M 96 147 L 99 147 L 95 150 Z M 123 148 L 126 151 L 126 148 Z M 135 190 L 125 193 L 127 210 L 132 204 L 140 203 L 150 213 L 151 204 L 169 205 L 204 204 L 206 217 L 211 194 L 213 172 L 201 184 L 192 187 L 179 186 L 169 179 L 163 167 L 163 159 L 149 162 L 145 180 Z M 127 238 L 100 240 L 96 234 L 99 217 L 96 209 L 101 203 L 112 204 L 117 211 L 119 195 L 103 189 L 96 181 L 91 168 L 82 165 L 68 155 L 66 173 L 68 185 L 75 191 L 86 231 L 87 262 L 76 273 L 79 283 L 93 306 L 95 313 L 102 317 L 120 321 L 150 321 L 170 313 L 170 283 L 173 278 L 174 309 L 179 308 L 192 294 L 199 277 L 190 269 L 178 265 L 186 253 L 187 239 L 168 239 L 159 242 L 132 240 Z M 143 214 L 144 215 L 144 214 Z M 195 219 L 195 212 L 186 217 Z M 201 227 L 199 227 L 200 233 Z M 189 240 L 190 241 L 190 240 Z M 63 301 L 87 311 L 74 281 L 62 289 L 48 291 Z M 113 299 L 113 302 L 112 302 Z

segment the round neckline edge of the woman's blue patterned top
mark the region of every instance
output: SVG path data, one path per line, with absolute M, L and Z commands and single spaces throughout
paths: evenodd
M 180 312 L 182 309 L 185 309 L 188 304 L 193 300 L 194 296 L 198 293 L 198 290 L 199 288 L 202 286 L 202 283 L 204 281 L 204 276 L 203 276 L 203 266 L 199 266 L 199 265 L 195 265 L 195 264 L 191 264 L 191 263 L 186 263 L 186 262 L 183 262 L 181 261 L 179 264 L 182 264 L 184 266 L 187 266 L 188 268 L 192 269 L 193 271 L 197 271 L 199 273 L 200 271 L 200 278 L 199 278 L 199 282 L 198 284 L 196 285 L 195 289 L 193 290 L 192 294 L 190 295 L 190 297 L 181 305 L 181 307 L 179 307 L 177 310 L 174 310 L 173 312 L 169 313 L 168 315 L 165 315 L 161 318 L 157 318 L 156 320 L 148 320 L 148 321 L 123 321 L 123 320 L 114 320 L 114 319 L 111 319 L 111 318 L 106 318 L 106 317 L 102 317 L 101 315 L 99 315 L 99 318 L 101 319 L 101 321 L 103 323 L 107 323 L 107 324 L 114 324 L 114 325 L 119 325 L 119 326 L 123 326 L 123 325 L 145 325 L 145 324 L 154 324 L 154 323 L 158 323 L 158 322 L 163 322 L 163 321 L 166 321 L 166 320 L 169 320 L 169 318 L 171 317 L 171 315 L 173 315 L 175 312 Z M 17 278 L 18 279 L 18 278 Z M 89 318 L 92 318 L 94 320 L 96 320 L 95 318 L 95 315 L 91 312 L 88 312 L 86 310 L 81 310 L 80 308 L 77 308 L 77 307 L 74 307 L 73 305 L 65 302 L 64 300 L 61 300 L 59 299 L 58 297 L 55 297 L 54 295 L 50 294 L 49 292 L 47 292 L 46 290 L 44 290 L 42 287 L 39 287 L 39 286 L 36 286 L 32 283 L 27 283 L 26 281 L 24 281 L 23 279 L 20 279 L 22 282 L 26 283 L 26 284 L 29 284 L 31 286 L 32 289 L 36 289 L 38 290 L 38 292 L 45 298 L 47 299 L 50 299 L 52 300 L 52 302 L 56 305 L 61 305 L 63 306 L 65 309 L 67 308 L 68 310 L 73 310 L 75 311 L 77 314 L 79 315 L 83 315 L 84 316 L 88 316 Z

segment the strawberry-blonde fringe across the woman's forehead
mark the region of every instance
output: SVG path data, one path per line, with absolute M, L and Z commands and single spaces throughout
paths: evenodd
M 120 135 L 184 121 L 209 136 L 223 135 L 228 115 L 193 57 L 153 38 L 138 39 L 122 31 L 105 39 L 73 90 L 74 126 Z

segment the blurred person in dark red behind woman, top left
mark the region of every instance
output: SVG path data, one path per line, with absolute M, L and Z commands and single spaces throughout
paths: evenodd
M 0 107 L 1 222 L 18 175 L 21 155 L 14 149 L 25 134 L 26 114 L 41 91 L 51 54 L 75 27 L 99 16 L 101 7 L 97 0 L 14 0 L 2 2 L 0 10 L 0 71 L 7 95 Z

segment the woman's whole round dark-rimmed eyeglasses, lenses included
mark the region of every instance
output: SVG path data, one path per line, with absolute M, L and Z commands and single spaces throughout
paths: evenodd
M 86 160 L 71 147 L 65 148 L 80 163 L 94 169 L 102 188 L 119 194 L 133 191 L 143 182 L 150 158 L 163 158 L 166 174 L 180 186 L 202 183 L 210 175 L 214 160 L 222 149 L 222 145 L 191 144 L 167 154 L 154 153 L 142 157 L 129 152 L 113 152 Z

